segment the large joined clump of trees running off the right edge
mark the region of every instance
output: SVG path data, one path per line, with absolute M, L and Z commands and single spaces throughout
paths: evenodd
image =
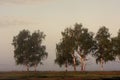
M 76 71 L 76 65 L 80 64 L 81 71 L 85 71 L 87 56 L 91 55 L 103 70 L 104 63 L 120 58 L 120 30 L 117 37 L 111 38 L 105 26 L 94 35 L 82 24 L 76 23 L 74 28 L 66 28 L 61 34 L 62 39 L 56 45 L 55 59 L 60 66 L 73 65 Z

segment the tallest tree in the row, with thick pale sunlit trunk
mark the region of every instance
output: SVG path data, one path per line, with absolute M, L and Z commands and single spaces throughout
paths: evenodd
M 83 28 L 82 24 L 75 24 L 74 27 L 75 49 L 80 57 L 81 71 L 86 67 L 86 56 L 91 53 L 95 41 L 93 40 L 93 33 L 89 32 L 87 28 Z

